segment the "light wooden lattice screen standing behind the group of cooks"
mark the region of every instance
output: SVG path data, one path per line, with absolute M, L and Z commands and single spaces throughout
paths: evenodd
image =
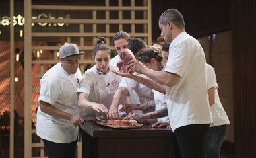
M 39 103 L 36 99 L 32 99 L 32 93 L 38 94 L 40 92 L 39 87 L 33 87 L 32 82 L 39 81 L 39 79 L 44 75 L 45 71 L 49 69 L 47 65 L 54 65 L 59 63 L 57 58 L 57 51 L 60 46 L 46 46 L 44 44 L 36 44 L 36 41 L 32 41 L 32 38 L 56 38 L 63 37 L 65 42 L 73 42 L 72 37 L 78 37 L 77 42 L 79 50 L 92 51 L 94 44 L 96 44 L 97 36 L 106 37 L 107 44 L 110 44 L 110 39 L 116 34 L 116 32 L 110 32 L 110 24 L 118 24 L 119 31 L 123 30 L 123 24 L 131 24 L 131 32 L 129 35 L 133 37 L 143 38 L 147 44 L 151 44 L 151 1 L 143 0 L 143 6 L 135 6 L 135 0 L 131 0 L 131 6 L 123 6 L 122 0 L 119 0 L 119 7 L 110 6 L 109 0 L 105 0 L 105 6 L 67 6 L 67 5 L 32 5 L 31 0 L 24 0 L 24 17 L 26 19 L 25 23 L 25 36 L 24 36 L 24 50 L 25 50 L 25 114 L 24 114 L 24 157 L 46 157 L 44 155 L 44 145 L 42 141 L 32 142 L 36 137 L 36 130 L 32 129 L 32 125 L 36 123 L 36 108 Z M 92 19 L 31 19 L 32 11 L 92 11 Z M 136 19 L 135 11 L 143 11 L 143 19 Z M 105 19 L 97 19 L 97 11 L 105 11 Z M 118 11 L 118 19 L 110 19 L 110 11 Z M 131 19 L 123 19 L 123 11 L 130 11 Z M 65 24 L 77 24 L 79 25 L 79 32 L 33 32 L 31 24 L 38 23 L 65 23 Z M 92 24 L 92 32 L 84 32 L 84 25 Z M 106 24 L 106 32 L 97 32 L 97 24 Z M 143 32 L 136 32 L 135 25 L 143 24 Z M 35 27 L 35 26 L 33 26 Z M 125 31 L 125 30 L 124 30 Z M 92 45 L 85 46 L 84 38 L 92 38 Z M 44 41 L 46 42 L 46 41 Z M 110 46 L 111 49 L 115 49 Z M 31 59 L 31 54 L 36 54 L 37 51 L 43 50 L 43 54 L 37 57 L 36 60 Z M 51 54 L 51 59 L 46 57 L 46 53 L 53 51 Z M 91 56 L 90 53 L 86 52 L 86 57 Z M 81 56 L 80 69 L 82 73 L 87 63 L 93 63 L 91 58 L 84 58 Z M 34 67 L 40 67 L 40 72 Z M 35 71 L 33 71 L 35 70 Z M 34 79 L 34 80 L 33 80 Z M 38 95 L 36 96 L 38 98 Z M 34 148 L 34 149 L 33 149 Z M 78 143 L 78 154 L 77 157 L 81 157 L 81 143 Z M 36 153 L 33 155 L 33 153 Z M 40 153 L 37 155 L 37 153 Z

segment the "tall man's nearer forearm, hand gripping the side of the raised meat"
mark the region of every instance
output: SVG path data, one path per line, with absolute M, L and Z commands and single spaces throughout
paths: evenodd
M 166 85 L 168 87 L 176 85 L 176 83 L 181 78 L 175 73 L 169 73 L 166 71 L 154 71 L 152 69 L 149 69 L 138 60 L 131 60 L 128 63 L 129 65 L 127 65 L 127 69 L 129 70 L 129 73 L 137 72 L 144 74 L 153 81 L 156 81 L 156 83 Z

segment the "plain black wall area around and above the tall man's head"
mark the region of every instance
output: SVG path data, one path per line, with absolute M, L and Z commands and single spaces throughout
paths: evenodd
M 230 0 L 152 0 L 152 40 L 160 36 L 158 18 L 170 8 L 181 11 L 187 33 L 196 38 L 230 29 Z

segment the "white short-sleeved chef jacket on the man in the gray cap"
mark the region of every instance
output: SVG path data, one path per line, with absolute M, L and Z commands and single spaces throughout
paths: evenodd
M 57 63 L 40 80 L 41 89 L 38 101 L 47 102 L 63 112 L 78 116 L 78 99 L 75 91 L 79 87 L 77 79 L 81 78 L 80 69 L 77 69 L 75 74 L 69 75 L 61 67 L 61 63 Z M 55 143 L 70 143 L 77 139 L 78 132 L 69 120 L 46 114 L 39 106 L 36 134 L 42 139 Z

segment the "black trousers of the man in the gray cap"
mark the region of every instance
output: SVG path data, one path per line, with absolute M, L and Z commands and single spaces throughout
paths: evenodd
M 45 139 L 42 139 L 42 141 L 44 141 L 45 150 L 49 158 L 75 158 L 77 140 L 71 143 L 54 143 Z

